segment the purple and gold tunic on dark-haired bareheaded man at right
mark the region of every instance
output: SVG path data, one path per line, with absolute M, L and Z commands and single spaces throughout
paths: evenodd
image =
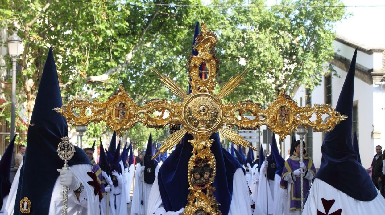
M 315 175 L 315 167 L 313 164 L 313 160 L 306 153 L 303 156 L 303 163 L 305 163 L 308 170 L 305 172 L 306 175 L 313 174 Z M 280 186 L 284 189 L 288 188 L 288 182 L 284 180 L 285 176 L 294 172 L 300 168 L 300 161 L 297 154 L 294 152 L 293 156 L 288 158 L 285 161 L 285 166 L 282 171 L 282 178 Z M 310 190 L 310 180 L 306 179 L 306 175 L 303 177 L 303 196 L 306 196 L 306 193 Z M 291 175 L 291 177 L 295 177 L 295 182 L 291 185 L 291 189 L 288 190 L 288 195 L 290 195 L 290 210 L 301 210 L 301 176 L 300 175 Z

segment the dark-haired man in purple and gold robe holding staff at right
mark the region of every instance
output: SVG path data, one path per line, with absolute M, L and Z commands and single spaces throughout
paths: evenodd
M 315 176 L 315 167 L 313 160 L 305 151 L 305 142 L 303 142 L 303 162 L 300 162 L 300 141 L 294 144 L 295 151 L 293 155 L 285 161 L 282 171 L 280 186 L 287 191 L 288 197 L 288 215 L 299 215 L 301 211 L 301 174 L 303 175 L 303 196 L 310 190 L 311 180 Z M 303 168 L 301 172 L 300 168 Z

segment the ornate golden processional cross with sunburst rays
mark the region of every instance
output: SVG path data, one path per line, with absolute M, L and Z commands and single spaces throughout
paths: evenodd
M 243 136 L 225 126 L 256 130 L 261 125 L 266 125 L 269 130 L 280 135 L 282 141 L 300 125 L 312 127 L 317 132 L 327 132 L 346 118 L 330 105 L 298 107 L 296 102 L 288 98 L 284 90 L 266 110 L 262 110 L 258 103 L 251 101 L 223 104 L 221 100 L 239 86 L 248 69 L 231 77 L 219 93 L 214 94 L 214 79 L 218 76 L 216 70 L 219 64 L 214 52 L 217 42 L 215 33 L 208 30 L 206 24 L 202 23 L 201 33 L 194 44 L 194 49 L 199 54 L 191 57 L 187 65 L 192 90 L 189 95 L 171 78 L 152 70 L 159 76 L 163 85 L 179 96 L 182 102 L 152 99 L 146 101 L 143 107 L 138 107 L 121 85 L 107 102 L 90 102 L 82 98 L 74 98 L 61 108 L 55 108 L 71 125 L 88 125 L 90 122 L 104 121 L 118 135 L 121 135 L 123 130 L 134 127 L 138 122 L 148 128 L 156 129 L 180 123 L 183 128 L 170 135 L 153 158 L 174 147 L 186 133 L 194 137 L 190 140 L 194 149 L 188 163 L 188 182 L 191 192 L 187 197 L 188 203 L 184 212 L 186 215 L 221 214 L 218 208 L 220 202 L 218 203 L 214 197 L 215 188 L 211 186 L 216 175 L 216 160 L 210 150 L 211 143 L 214 141 L 209 139 L 212 133 L 218 132 L 236 145 L 256 150 L 244 140 Z M 205 79 L 199 77 L 199 66 L 203 63 L 206 63 L 208 68 Z M 153 113 L 156 111 L 161 114 L 154 117 Z M 167 117 L 164 115 L 166 111 L 169 112 Z M 239 117 L 235 115 L 236 111 L 239 112 Z M 255 118 L 250 120 L 244 117 L 247 112 Z M 311 121 L 313 115 L 316 119 Z M 322 120 L 323 115 L 328 116 L 326 122 Z

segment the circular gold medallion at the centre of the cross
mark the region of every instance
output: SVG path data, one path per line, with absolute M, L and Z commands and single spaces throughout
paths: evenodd
M 222 103 L 209 93 L 197 93 L 183 104 L 183 120 L 195 132 L 211 132 L 222 121 Z

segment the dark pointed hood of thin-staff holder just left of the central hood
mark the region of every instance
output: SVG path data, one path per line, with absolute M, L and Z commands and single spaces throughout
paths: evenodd
M 143 158 L 143 165 L 144 167 L 146 167 L 146 169 L 144 170 L 144 182 L 149 184 L 154 183 L 155 168 L 158 165 L 158 162 L 152 159 L 152 156 L 154 155 L 154 153 L 152 152 L 152 146 L 152 132 L 150 132 L 150 136 L 147 142 L 146 154 Z

